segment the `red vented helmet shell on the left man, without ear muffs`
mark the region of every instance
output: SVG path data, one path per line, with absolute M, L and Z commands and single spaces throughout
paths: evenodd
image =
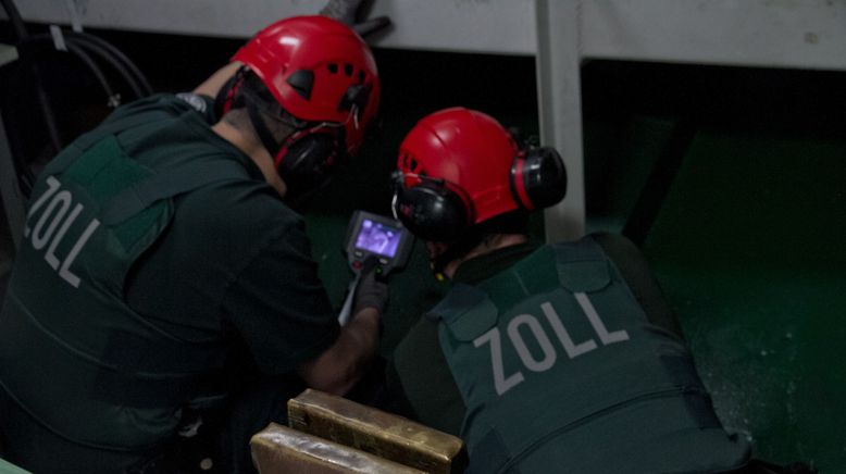
M 307 122 L 343 124 L 354 154 L 376 115 L 380 80 L 370 47 L 326 16 L 294 16 L 259 32 L 233 57 L 259 76 L 283 109 Z

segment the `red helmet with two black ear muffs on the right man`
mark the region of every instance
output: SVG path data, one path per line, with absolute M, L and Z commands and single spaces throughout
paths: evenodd
M 426 240 L 453 241 L 470 226 L 552 205 L 567 192 L 561 157 L 521 150 L 482 112 L 452 108 L 422 118 L 399 148 L 394 212 Z

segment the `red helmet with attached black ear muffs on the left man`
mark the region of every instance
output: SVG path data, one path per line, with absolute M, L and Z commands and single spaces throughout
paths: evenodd
M 336 165 L 357 152 L 378 109 L 380 79 L 370 48 L 335 20 L 295 16 L 259 32 L 233 61 L 246 67 L 217 93 L 217 117 L 246 107 L 287 185 L 286 201 L 322 187 Z M 238 93 L 246 71 L 263 83 L 270 92 L 266 98 L 244 100 L 245 95 Z M 293 129 L 282 142 L 259 110 L 261 102 L 274 100 L 285 111 L 279 120 Z

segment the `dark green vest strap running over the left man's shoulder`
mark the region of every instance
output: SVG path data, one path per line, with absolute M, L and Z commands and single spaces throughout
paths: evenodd
M 246 175 L 244 166 L 235 161 L 188 163 L 157 173 L 149 179 L 121 191 L 103 209 L 103 224 L 115 225 L 141 212 L 162 199 L 191 191 L 202 186 L 239 179 Z

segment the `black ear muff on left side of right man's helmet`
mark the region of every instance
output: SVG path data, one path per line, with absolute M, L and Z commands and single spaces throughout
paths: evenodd
M 471 216 L 464 200 L 440 183 L 423 182 L 411 188 L 398 186 L 395 192 L 396 215 L 424 240 L 455 241 L 470 227 Z

